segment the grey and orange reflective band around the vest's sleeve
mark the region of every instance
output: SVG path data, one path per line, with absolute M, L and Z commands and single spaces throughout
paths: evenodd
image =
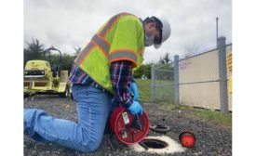
M 113 51 L 109 55 L 109 60 L 110 62 L 116 61 L 116 60 L 121 60 L 122 58 L 128 59 L 135 64 L 137 64 L 137 54 L 136 52 L 129 50 L 129 49 L 119 49 L 117 51 Z

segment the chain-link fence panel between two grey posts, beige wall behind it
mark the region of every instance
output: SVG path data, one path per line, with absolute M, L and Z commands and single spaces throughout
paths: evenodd
M 179 61 L 180 104 L 220 109 L 218 50 Z

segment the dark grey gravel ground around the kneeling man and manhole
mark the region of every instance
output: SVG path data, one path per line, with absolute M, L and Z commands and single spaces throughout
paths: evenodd
M 179 142 L 179 134 L 182 130 L 192 130 L 195 133 L 196 143 L 192 149 L 181 153 L 169 155 L 175 156 L 229 156 L 232 155 L 232 129 L 210 123 L 206 120 L 195 117 L 193 110 L 166 110 L 159 104 L 142 103 L 143 109 L 148 112 L 150 123 L 164 123 L 170 127 L 166 136 Z M 63 119 L 77 121 L 75 103 L 70 98 L 56 96 L 35 96 L 24 99 L 24 108 L 36 108 L 46 110 L 49 114 Z M 159 136 L 150 131 L 149 135 Z M 149 153 L 138 153 L 126 145 L 119 143 L 115 136 L 113 143 L 115 150 L 112 150 L 108 143 L 108 135 L 105 135 L 101 142 L 101 148 L 92 153 L 81 153 L 75 150 L 64 148 L 60 145 L 40 143 L 24 136 L 24 156 L 142 156 L 156 155 Z

